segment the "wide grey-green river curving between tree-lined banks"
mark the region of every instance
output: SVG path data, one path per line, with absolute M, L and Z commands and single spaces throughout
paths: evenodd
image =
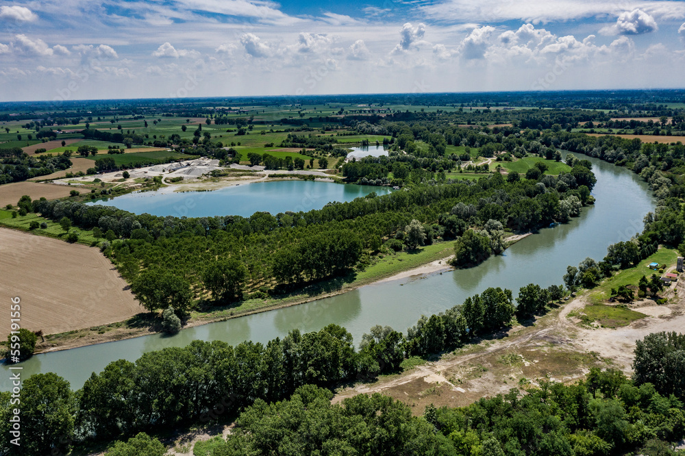
M 654 206 L 647 185 L 630 170 L 589 160 L 597 176 L 594 207 L 584 208 L 571 223 L 543 229 L 517 242 L 504 255 L 490 257 L 475 268 L 365 286 L 311 303 L 184 329 L 173 337 L 154 334 L 44 353 L 22 364 L 22 378 L 36 372 L 55 372 L 77 389 L 92 372 L 100 372 L 108 363 L 121 358 L 134 361 L 146 351 L 184 346 L 195 339 L 264 343 L 291 329 L 317 331 L 329 323 L 346 327 L 358 342 L 373 325 L 390 325 L 405 332 L 421 314 L 442 312 L 490 286 L 516 292 L 527 283 L 560 284 L 567 265 L 575 266 L 585 257 L 599 260 L 609 244 L 641 231 L 643 217 Z M 8 366 L 3 370 L 0 388 L 9 390 Z

